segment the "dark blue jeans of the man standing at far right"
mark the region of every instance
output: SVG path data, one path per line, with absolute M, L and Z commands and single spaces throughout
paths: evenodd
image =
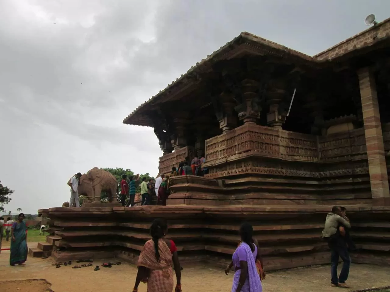
M 351 266 L 351 257 L 349 257 L 348 249 L 346 246 L 332 246 L 330 250 L 332 252 L 330 265 L 332 284 L 337 285 L 338 283 L 345 283 L 349 275 L 349 266 Z M 339 265 L 339 257 L 342 259 L 343 264 L 340 276 L 337 277 L 337 266 Z

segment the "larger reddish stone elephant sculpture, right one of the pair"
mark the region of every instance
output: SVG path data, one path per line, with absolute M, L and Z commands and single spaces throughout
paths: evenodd
M 94 201 L 100 202 L 101 191 L 107 192 L 110 202 L 117 202 L 117 179 L 110 172 L 94 167 L 87 172 L 87 178 L 91 181 Z

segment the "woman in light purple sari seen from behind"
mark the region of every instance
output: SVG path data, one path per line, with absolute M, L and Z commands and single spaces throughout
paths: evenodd
M 233 253 L 234 280 L 232 292 L 262 292 L 255 263 L 257 246 L 252 238 L 253 227 L 243 223 L 240 227 L 241 244 Z

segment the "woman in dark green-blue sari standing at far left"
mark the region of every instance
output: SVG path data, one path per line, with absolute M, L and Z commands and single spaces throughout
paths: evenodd
M 15 266 L 24 266 L 27 260 L 27 225 L 23 221 L 24 214 L 20 213 L 18 220 L 12 224 L 11 227 L 11 255 L 9 257 L 9 264 Z

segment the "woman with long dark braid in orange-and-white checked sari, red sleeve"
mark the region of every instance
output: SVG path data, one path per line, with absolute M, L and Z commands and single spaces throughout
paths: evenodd
M 147 282 L 148 292 L 172 292 L 173 271 L 176 273 L 175 292 L 181 292 L 181 271 L 177 248 L 172 240 L 166 239 L 167 222 L 155 219 L 150 227 L 152 239 L 144 245 L 138 258 L 138 273 L 133 292 L 138 291 L 141 281 Z

